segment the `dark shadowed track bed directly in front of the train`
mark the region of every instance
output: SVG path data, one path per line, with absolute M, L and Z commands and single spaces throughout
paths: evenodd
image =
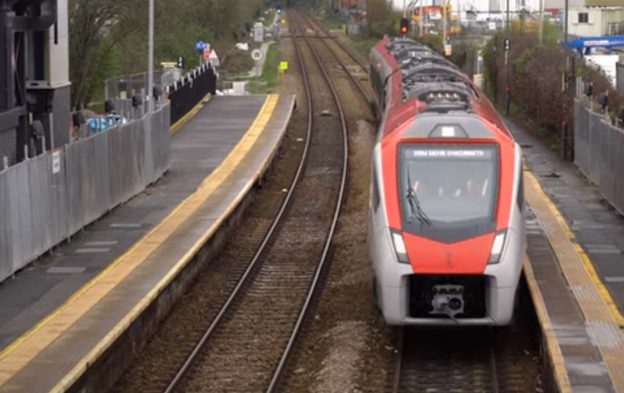
M 521 313 L 507 328 L 400 329 L 392 392 L 543 392 L 537 321 Z

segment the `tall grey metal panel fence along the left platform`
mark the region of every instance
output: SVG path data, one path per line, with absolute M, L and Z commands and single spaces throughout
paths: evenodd
M 170 107 L 0 172 L 0 281 L 169 168 Z

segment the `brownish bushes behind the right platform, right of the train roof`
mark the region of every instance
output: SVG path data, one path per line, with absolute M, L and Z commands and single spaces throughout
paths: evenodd
M 504 32 L 497 33 L 484 51 L 486 92 L 498 104 L 504 103 L 507 85 L 504 37 Z M 594 83 L 595 95 L 609 90 L 610 108 L 613 111 L 619 108 L 621 98 L 606 76 L 585 65 L 573 52 L 564 50 L 554 26 L 545 26 L 542 44 L 538 43 L 535 31 L 525 30 L 519 24 L 513 26 L 510 38 L 512 108 L 548 133 L 548 137 L 557 139 L 562 124 L 573 122 L 573 68 L 577 76 Z M 566 91 L 564 85 L 568 87 Z

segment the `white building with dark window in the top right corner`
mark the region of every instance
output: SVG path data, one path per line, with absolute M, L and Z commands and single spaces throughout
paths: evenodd
M 568 31 L 583 37 L 624 34 L 624 7 L 570 9 Z

